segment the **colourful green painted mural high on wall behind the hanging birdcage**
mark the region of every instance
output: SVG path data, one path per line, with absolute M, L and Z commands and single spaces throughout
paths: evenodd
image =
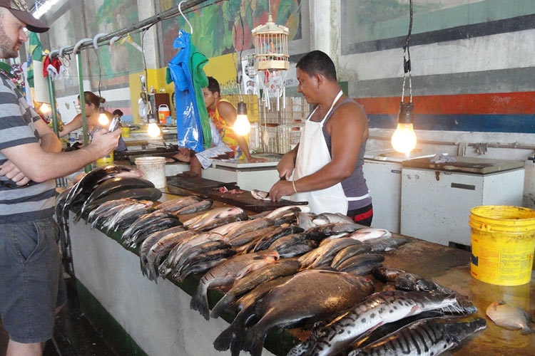
M 290 28 L 289 41 L 301 38 L 301 0 L 270 0 L 272 18 L 277 24 Z M 178 6 L 178 0 L 161 0 L 162 11 Z M 222 56 L 234 51 L 253 48 L 251 29 L 267 21 L 268 0 L 210 1 L 200 9 L 186 14 L 193 26 L 193 43 L 206 57 Z M 165 63 L 176 54 L 173 41 L 178 31 L 190 31 L 181 16 L 162 22 Z M 198 31 L 195 31 L 198 29 Z

